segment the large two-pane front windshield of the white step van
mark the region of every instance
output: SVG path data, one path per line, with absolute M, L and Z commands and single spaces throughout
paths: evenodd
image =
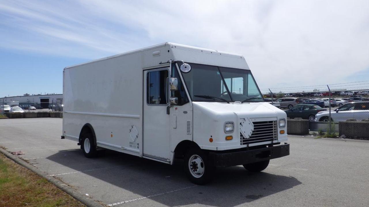
M 191 70 L 182 76 L 192 101 L 264 102 L 251 71 L 189 64 Z

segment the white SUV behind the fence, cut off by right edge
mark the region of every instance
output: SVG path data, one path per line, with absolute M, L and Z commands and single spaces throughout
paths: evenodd
M 333 122 L 346 121 L 347 119 L 369 119 L 369 101 L 349 102 L 331 112 Z M 317 113 L 315 121 L 328 122 L 329 112 Z

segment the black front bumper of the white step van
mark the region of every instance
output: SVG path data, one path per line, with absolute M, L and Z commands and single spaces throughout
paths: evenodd
M 209 164 L 211 166 L 227 167 L 244 165 L 268 159 L 284 157 L 290 154 L 290 144 L 282 144 L 275 147 L 266 147 L 256 150 L 238 152 L 209 152 Z

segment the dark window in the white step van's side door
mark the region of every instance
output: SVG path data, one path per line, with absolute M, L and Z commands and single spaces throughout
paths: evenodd
M 163 105 L 168 100 L 168 70 L 147 73 L 147 104 Z

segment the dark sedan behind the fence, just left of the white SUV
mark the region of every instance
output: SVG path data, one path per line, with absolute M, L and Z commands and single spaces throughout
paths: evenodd
M 318 112 L 326 110 L 327 109 L 323 109 L 315 104 L 298 104 L 289 110 L 285 110 L 284 112 L 286 112 L 287 117 L 290 117 L 291 119 L 300 117 L 303 119 L 308 119 L 310 122 L 314 122 L 315 115 Z

